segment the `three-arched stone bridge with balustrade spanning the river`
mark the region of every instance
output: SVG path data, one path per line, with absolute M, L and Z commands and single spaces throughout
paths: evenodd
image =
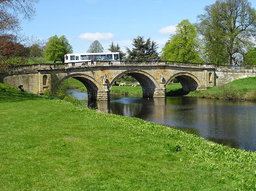
M 255 76 L 255 66 L 234 67 L 215 64 L 170 61 L 97 61 L 19 65 L 0 70 L 0 82 L 43 94 L 53 81 L 70 77 L 81 81 L 89 99 L 109 100 L 114 82 L 124 74 L 134 77 L 143 89 L 143 97 L 166 97 L 166 87 L 175 77 L 185 91 L 206 89 L 232 80 Z

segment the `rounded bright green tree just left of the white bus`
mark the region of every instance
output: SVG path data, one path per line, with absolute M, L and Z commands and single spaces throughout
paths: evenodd
M 50 61 L 64 62 L 64 56 L 67 53 L 72 53 L 72 46 L 69 44 L 69 40 L 62 35 L 60 38 L 57 35 L 50 37 L 48 43 L 45 46 L 44 57 Z

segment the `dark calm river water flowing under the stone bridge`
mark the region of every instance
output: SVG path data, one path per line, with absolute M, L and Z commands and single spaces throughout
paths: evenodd
M 76 89 L 68 92 L 78 99 L 87 99 L 87 93 Z M 88 105 L 105 113 L 171 126 L 230 147 L 256 150 L 255 102 L 184 96 L 147 99 L 111 95 L 110 99 Z

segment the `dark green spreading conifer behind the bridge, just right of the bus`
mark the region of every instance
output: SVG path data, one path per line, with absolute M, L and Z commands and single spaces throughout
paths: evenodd
M 135 59 L 138 61 L 149 60 L 149 59 L 158 59 L 157 45 L 155 41 L 151 41 L 150 38 L 144 40 L 144 37 L 138 36 L 133 39 L 134 47 L 130 50 L 126 47 L 127 59 Z

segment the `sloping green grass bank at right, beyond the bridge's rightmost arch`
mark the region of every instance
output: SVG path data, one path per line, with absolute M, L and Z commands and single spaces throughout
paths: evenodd
M 202 98 L 255 100 L 256 77 L 234 80 L 223 86 L 215 86 L 203 91 L 193 91 L 189 95 Z

